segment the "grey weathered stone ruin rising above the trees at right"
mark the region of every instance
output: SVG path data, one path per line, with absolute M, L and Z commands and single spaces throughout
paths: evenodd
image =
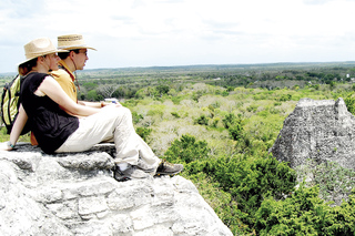
M 290 162 L 291 167 L 305 164 L 336 162 L 355 168 L 355 117 L 343 99 L 315 101 L 302 99 L 284 121 L 271 153 Z

